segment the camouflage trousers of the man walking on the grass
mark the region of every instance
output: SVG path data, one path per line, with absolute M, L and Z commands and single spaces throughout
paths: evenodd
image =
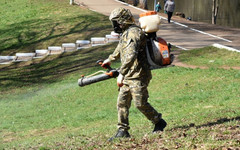
M 149 95 L 147 86 L 148 82 L 144 83 L 139 80 L 124 82 L 124 85 L 120 88 L 117 101 L 118 129 L 130 129 L 128 116 L 132 100 L 136 108 L 138 108 L 148 120 L 152 121 L 153 124 L 158 123 L 159 119 L 161 119 L 161 114 L 148 103 Z

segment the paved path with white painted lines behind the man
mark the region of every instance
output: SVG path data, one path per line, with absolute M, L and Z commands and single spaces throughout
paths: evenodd
M 138 20 L 139 14 L 146 11 L 117 0 L 75 1 L 107 16 L 110 15 L 113 9 L 124 7 L 131 10 L 135 20 Z M 218 43 L 240 50 L 240 29 L 187 21 L 177 16 L 174 16 L 172 18 L 173 22 L 169 24 L 166 20 L 166 14 L 159 13 L 159 15 L 162 17 L 162 24 L 157 35 L 181 49 L 202 48 Z

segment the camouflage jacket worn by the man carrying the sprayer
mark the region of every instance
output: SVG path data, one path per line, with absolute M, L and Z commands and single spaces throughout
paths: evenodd
M 126 29 L 118 46 L 108 59 L 121 58 L 120 73 L 124 80 L 141 80 L 149 82 L 152 78 L 146 55 L 146 36 L 136 25 Z

